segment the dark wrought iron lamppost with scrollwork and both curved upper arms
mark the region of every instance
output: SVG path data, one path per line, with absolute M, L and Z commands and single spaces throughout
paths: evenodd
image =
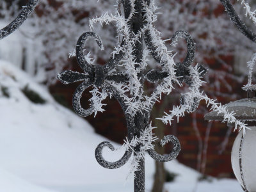
M 250 38 L 253 42 L 256 42 L 256 37 L 252 31 L 248 30 L 246 26 L 241 22 L 239 17 L 236 15 L 236 12 L 234 12 L 234 9 L 232 8 L 232 5 L 228 0 L 220 0 L 221 3 L 225 6 L 228 14 L 230 15 L 231 19 L 234 21 L 237 27 L 246 35 L 248 38 Z M 39 0 L 29 0 L 28 4 L 24 7 L 20 15 L 13 20 L 8 26 L 1 29 L 0 31 L 0 39 L 10 35 L 15 29 L 19 28 L 19 26 L 26 20 L 31 12 L 36 7 L 36 4 L 38 4 Z M 177 31 L 175 35 L 173 35 L 172 40 L 175 42 L 178 38 L 185 38 L 187 44 L 188 44 L 188 54 L 185 58 L 185 60 L 182 63 L 177 63 L 172 69 L 170 70 L 149 70 L 145 72 L 144 68 L 140 68 L 143 60 L 143 46 L 147 46 L 147 49 L 152 54 L 152 57 L 159 63 L 159 66 L 163 69 L 166 68 L 166 65 L 168 63 L 163 61 L 163 57 L 159 56 L 158 49 L 159 47 L 156 47 L 156 44 L 154 44 L 154 37 L 152 36 L 152 31 L 154 31 L 154 26 L 152 26 L 152 31 L 145 29 L 143 31 L 144 27 L 147 26 L 147 24 L 152 24 L 152 20 L 154 20 L 154 15 L 150 15 L 150 17 L 146 17 L 147 12 L 145 11 L 147 6 L 150 6 L 150 0 L 120 0 L 120 5 L 123 5 L 124 8 L 124 19 L 125 23 L 127 24 L 127 36 L 130 36 L 131 38 L 136 38 L 136 41 L 132 42 L 132 52 L 131 55 L 134 58 L 134 71 L 136 71 L 136 74 L 125 74 L 122 72 L 115 71 L 116 66 L 120 65 L 120 63 L 123 62 L 124 58 L 124 51 L 120 49 L 121 51 L 116 52 L 114 56 L 111 56 L 110 60 L 105 65 L 92 65 L 91 63 L 86 60 L 86 55 L 84 54 L 84 44 L 86 43 L 86 40 L 89 38 L 93 38 L 97 44 L 99 45 L 100 49 L 103 48 L 102 42 L 100 40 L 100 37 L 92 32 L 84 33 L 80 36 L 79 40 L 77 41 L 76 46 L 76 56 L 77 56 L 77 62 L 79 66 L 83 69 L 84 73 L 78 73 L 78 72 L 72 72 L 70 70 L 62 72 L 58 75 L 58 79 L 64 83 L 73 83 L 77 81 L 83 81 L 79 87 L 76 89 L 73 97 L 73 107 L 74 110 L 81 116 L 88 116 L 93 113 L 94 105 L 92 104 L 89 109 L 84 109 L 81 106 L 80 100 L 82 93 L 84 90 L 86 90 L 88 87 L 93 86 L 96 88 L 104 88 L 106 92 L 110 96 L 115 97 L 116 100 L 120 103 L 122 106 L 122 109 L 125 113 L 125 118 L 127 120 L 127 129 L 128 129 L 128 141 L 131 141 L 132 138 L 140 138 L 141 134 L 150 124 L 150 111 L 152 110 L 154 104 L 156 103 L 157 99 L 152 99 L 147 105 L 147 109 L 145 108 L 139 108 L 133 115 L 131 113 L 127 113 L 129 111 L 129 105 L 124 100 L 124 94 L 120 92 L 111 82 L 115 83 L 125 83 L 129 81 L 131 76 L 136 76 L 138 79 L 138 82 L 140 87 L 138 89 L 138 93 L 136 93 L 138 96 L 133 98 L 131 102 L 140 102 L 145 103 L 147 100 L 141 100 L 140 93 L 144 93 L 143 90 L 143 84 L 145 81 L 149 82 L 157 82 L 162 81 L 164 82 L 166 78 L 170 76 L 177 76 L 179 77 L 179 80 L 177 80 L 177 83 L 187 83 L 189 86 L 193 86 L 193 83 L 191 81 L 191 74 L 189 67 L 193 63 L 193 60 L 195 58 L 195 44 L 193 42 L 193 39 L 186 31 Z M 133 3 L 133 5 L 132 5 Z M 122 13 L 120 12 L 120 15 Z M 120 44 L 120 47 L 127 46 L 127 42 L 125 42 L 125 35 L 123 36 L 122 43 Z M 201 76 L 204 76 L 205 72 L 207 70 L 199 66 L 198 71 L 200 72 Z M 110 83 L 109 83 L 110 82 Z M 173 82 L 170 82 L 172 86 Z M 161 85 L 161 83 L 159 84 Z M 157 89 L 159 88 L 159 85 L 156 87 L 155 92 L 152 93 L 152 95 L 156 94 Z M 161 95 L 161 94 L 160 94 Z M 147 97 L 145 97 L 147 98 Z M 181 97 L 181 104 L 182 102 L 186 102 L 186 99 L 184 97 Z M 191 99 L 190 104 L 193 109 L 195 109 L 198 106 L 198 100 L 196 98 Z M 134 104 L 134 103 L 131 103 Z M 193 110 L 189 110 L 193 111 Z M 164 154 L 160 155 L 157 154 L 157 152 L 154 149 L 147 149 L 147 153 L 156 161 L 166 162 L 166 161 L 172 161 L 172 159 L 175 159 L 179 152 L 180 152 L 180 143 L 175 136 L 168 135 L 163 138 L 161 143 L 164 145 L 168 142 L 172 142 L 174 147 L 170 154 Z M 95 157 L 98 161 L 98 163 L 103 166 L 104 168 L 119 168 L 120 166 L 123 166 L 129 158 L 132 156 L 136 157 L 141 152 L 141 148 L 143 148 L 143 144 L 139 143 L 138 145 L 128 148 L 125 151 L 124 156 L 116 161 L 116 162 L 109 162 L 102 157 L 102 149 L 104 147 L 108 147 L 111 150 L 114 150 L 113 145 L 109 142 L 102 142 L 98 145 L 98 147 L 95 150 Z M 143 158 L 140 159 L 138 162 L 138 170 L 134 172 L 134 191 L 136 192 L 143 192 L 145 191 L 145 170 L 144 170 L 144 162 L 145 160 Z

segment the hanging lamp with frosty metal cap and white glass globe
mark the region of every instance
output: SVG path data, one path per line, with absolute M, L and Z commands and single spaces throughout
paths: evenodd
M 229 112 L 233 112 L 237 120 L 250 126 L 251 130 L 240 131 L 234 141 L 231 154 L 232 168 L 244 191 L 256 192 L 256 97 L 255 92 L 246 99 L 225 104 Z M 224 120 L 224 114 L 212 111 L 204 116 L 205 120 Z M 228 123 L 228 125 L 234 125 Z

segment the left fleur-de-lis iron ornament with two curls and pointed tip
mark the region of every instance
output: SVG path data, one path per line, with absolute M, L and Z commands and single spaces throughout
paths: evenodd
M 77 81 L 84 81 L 82 84 L 80 84 L 77 87 L 73 95 L 73 101 L 72 101 L 73 108 L 76 111 L 76 113 L 84 117 L 91 115 L 94 111 L 94 107 L 93 107 L 93 104 L 90 104 L 89 109 L 84 109 L 81 106 L 80 100 L 83 92 L 87 88 L 93 85 L 97 87 L 101 87 L 104 84 L 104 81 L 106 78 L 110 80 L 116 79 L 116 81 L 118 81 L 120 77 L 122 77 L 120 75 L 118 76 L 118 74 L 114 77 L 111 76 L 112 78 L 109 76 L 106 76 L 106 74 L 108 74 L 108 72 L 112 68 L 118 65 L 119 61 L 123 57 L 122 52 L 116 54 L 115 58 L 111 57 L 108 63 L 106 63 L 103 66 L 92 65 L 88 63 L 88 61 L 86 61 L 85 59 L 86 55 L 84 54 L 84 45 L 86 44 L 86 41 L 89 38 L 93 38 L 97 42 L 97 45 L 99 45 L 100 50 L 104 49 L 100 36 L 93 32 L 83 33 L 83 35 L 79 37 L 79 39 L 77 40 L 77 46 L 76 46 L 76 57 L 77 57 L 77 63 L 84 70 L 84 73 L 81 74 L 79 72 L 73 72 L 73 71 L 67 70 L 67 71 L 61 72 L 61 74 L 57 76 L 57 79 L 59 79 L 64 84 L 74 83 Z

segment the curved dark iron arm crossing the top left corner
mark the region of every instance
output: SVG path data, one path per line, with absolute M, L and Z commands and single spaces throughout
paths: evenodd
M 19 15 L 8 26 L 0 30 L 0 40 L 10 35 L 18 29 L 23 22 L 28 19 L 29 15 L 35 10 L 35 7 L 39 3 L 39 0 L 29 0 Z

